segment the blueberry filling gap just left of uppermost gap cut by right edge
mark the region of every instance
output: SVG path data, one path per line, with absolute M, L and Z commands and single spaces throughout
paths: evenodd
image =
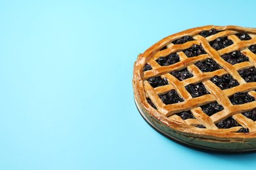
M 244 61 L 249 61 L 249 59 L 240 51 L 234 51 L 234 52 L 223 54 L 221 58 L 223 58 L 225 61 L 227 61 L 232 65 L 236 63 L 242 63 Z

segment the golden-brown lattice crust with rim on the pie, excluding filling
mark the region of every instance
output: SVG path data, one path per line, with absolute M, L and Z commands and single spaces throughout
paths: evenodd
M 209 35 L 209 37 L 203 37 L 200 35 L 202 31 L 209 31 L 210 29 L 217 29 L 217 33 Z M 237 35 L 246 32 L 251 39 L 242 41 Z M 180 39 L 184 36 L 191 36 L 190 41 L 184 42 L 183 44 L 173 44 L 172 42 Z M 218 37 L 227 37 L 233 44 L 222 48 L 221 50 L 215 50 L 209 42 L 214 41 Z M 184 50 L 190 48 L 192 45 L 202 45 L 203 50 L 206 54 L 200 56 L 194 56 L 188 58 L 184 54 Z M 256 137 L 256 122 L 246 118 L 242 112 L 253 110 L 256 108 L 256 101 L 244 103 L 242 105 L 232 105 L 229 97 L 234 95 L 236 92 L 246 92 L 256 99 L 256 82 L 245 82 L 244 78 L 238 74 L 238 71 L 256 66 L 256 54 L 251 52 L 248 48 L 252 44 L 256 44 L 256 29 L 242 28 L 236 26 L 205 26 L 194 29 L 188 29 L 181 33 L 171 35 L 156 43 L 154 46 L 146 50 L 144 54 L 141 54 L 135 63 L 133 86 L 135 89 L 135 98 L 140 101 L 140 107 L 146 112 L 150 112 L 152 116 L 161 120 L 164 124 L 171 126 L 175 129 L 179 129 L 185 132 L 194 131 L 194 133 L 205 133 L 207 135 L 215 135 L 221 137 L 223 133 L 228 133 L 227 136 L 237 137 L 239 135 L 251 135 L 250 137 Z M 231 65 L 225 61 L 221 56 L 239 50 L 244 54 L 249 61 L 236 63 Z M 180 61 L 173 63 L 172 65 L 161 66 L 156 60 L 161 56 L 168 56 L 169 54 L 177 53 Z M 198 61 L 204 61 L 207 58 L 213 59 L 221 69 L 217 69 L 211 72 L 203 73 L 196 65 Z M 152 69 L 148 71 L 142 71 L 144 65 L 148 63 Z M 191 78 L 185 80 L 178 80 L 175 76 L 171 75 L 173 71 L 179 71 L 181 69 L 187 69 L 192 73 Z M 238 81 L 239 85 L 233 88 L 221 90 L 215 85 L 211 78 L 213 76 L 223 76 L 229 74 Z M 148 82 L 148 78 L 154 76 L 161 76 L 161 78 L 167 78 L 169 84 L 165 86 L 158 86 L 152 88 Z M 188 84 L 196 84 L 202 82 L 209 94 L 202 95 L 200 97 L 192 97 L 192 95 L 186 90 L 185 86 Z M 173 103 L 165 105 L 160 99 L 160 95 L 175 90 L 183 101 L 179 103 Z M 151 99 L 156 109 L 153 109 L 148 105 L 146 99 Z M 200 106 L 207 103 L 216 102 L 223 106 L 223 110 L 217 112 L 211 116 L 208 116 L 203 112 Z M 182 120 L 177 113 L 182 111 L 190 110 L 194 118 Z M 228 129 L 219 129 L 216 124 L 226 118 L 233 118 L 238 122 L 239 126 L 231 127 Z M 173 122 L 179 125 L 173 125 Z M 182 128 L 181 125 L 186 126 L 186 129 Z M 205 128 L 199 128 L 196 126 L 204 126 Z M 241 127 L 249 129 L 249 133 L 235 133 Z M 226 135 L 226 134 L 225 134 Z

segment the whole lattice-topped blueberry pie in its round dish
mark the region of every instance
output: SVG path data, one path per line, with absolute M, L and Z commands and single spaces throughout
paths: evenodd
M 140 54 L 135 103 L 158 131 L 190 146 L 256 150 L 256 29 L 207 25 Z

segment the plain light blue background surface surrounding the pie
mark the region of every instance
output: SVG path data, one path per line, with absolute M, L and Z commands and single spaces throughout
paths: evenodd
M 256 27 L 255 1 L 1 1 L 0 169 L 255 169 L 140 116 L 137 55 L 201 25 Z

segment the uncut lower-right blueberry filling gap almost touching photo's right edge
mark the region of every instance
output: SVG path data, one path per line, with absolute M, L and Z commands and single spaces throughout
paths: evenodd
M 252 97 L 248 93 L 242 92 L 234 93 L 234 95 L 230 96 L 229 99 L 233 105 L 242 105 L 244 103 L 255 101 L 254 97 Z

